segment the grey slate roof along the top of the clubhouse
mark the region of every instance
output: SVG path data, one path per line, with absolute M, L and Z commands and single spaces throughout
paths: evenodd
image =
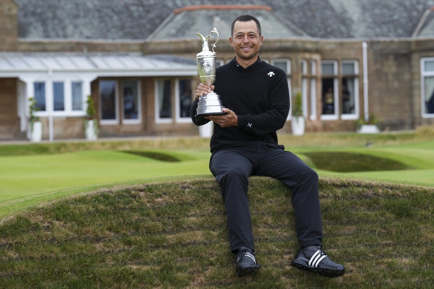
M 18 33 L 23 39 L 143 40 L 168 18 L 177 20 L 171 25 L 178 31 L 187 28 L 192 19 L 172 15 L 181 7 L 235 4 L 233 0 L 14 1 L 19 5 Z M 272 7 L 280 25 L 293 36 L 304 31 L 319 38 L 397 38 L 411 37 L 434 0 L 237 0 L 236 4 Z M 434 37 L 433 21 L 427 17 L 421 35 Z

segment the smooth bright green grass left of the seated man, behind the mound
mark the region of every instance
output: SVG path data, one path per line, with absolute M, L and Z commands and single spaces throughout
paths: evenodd
M 0 200 L 68 187 L 209 172 L 209 152 L 178 154 L 182 154 L 183 161 L 158 161 L 112 150 L 3 156 L 0 157 Z

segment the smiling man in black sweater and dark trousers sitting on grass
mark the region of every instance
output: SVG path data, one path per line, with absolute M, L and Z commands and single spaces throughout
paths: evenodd
M 190 114 L 196 125 L 215 123 L 210 171 L 220 184 L 225 202 L 230 250 L 237 253 L 237 275 L 242 277 L 260 268 L 247 198 L 249 176 L 260 175 L 274 177 L 292 188 L 301 248 L 291 265 L 321 276 L 341 276 L 344 266 L 330 260 L 322 250 L 318 174 L 277 144 L 276 131 L 285 125 L 289 113 L 286 73 L 259 58 L 263 36 L 256 18 L 238 17 L 231 32 L 229 42 L 235 58 L 217 68 L 214 85 L 197 86 Z M 227 107 L 223 108 L 226 115 L 195 118 L 198 98 L 212 90 Z

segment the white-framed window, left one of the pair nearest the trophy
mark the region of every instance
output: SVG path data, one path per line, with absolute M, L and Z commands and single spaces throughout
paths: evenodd
M 172 122 L 172 82 L 170 80 L 155 81 L 155 122 Z

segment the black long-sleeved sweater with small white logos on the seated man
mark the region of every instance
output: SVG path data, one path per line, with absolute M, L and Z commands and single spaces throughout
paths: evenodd
M 289 113 L 289 90 L 286 73 L 259 59 L 247 68 L 235 58 L 216 71 L 214 92 L 222 105 L 238 116 L 238 126 L 222 128 L 214 124 L 210 149 L 214 153 L 231 143 L 264 141 L 277 144 L 276 131 L 283 128 Z M 190 109 L 195 125 L 210 120 L 195 118 L 198 99 Z

